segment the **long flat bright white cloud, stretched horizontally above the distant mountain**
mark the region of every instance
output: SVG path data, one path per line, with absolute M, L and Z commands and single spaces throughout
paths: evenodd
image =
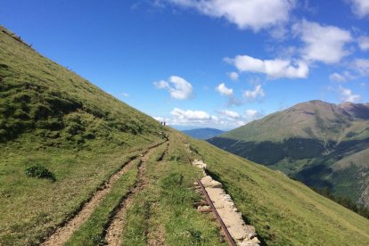
M 288 60 L 259 60 L 249 55 L 237 55 L 234 59 L 225 58 L 242 71 L 265 73 L 271 78 L 307 78 L 308 67 L 304 61 L 297 61 L 291 65 Z

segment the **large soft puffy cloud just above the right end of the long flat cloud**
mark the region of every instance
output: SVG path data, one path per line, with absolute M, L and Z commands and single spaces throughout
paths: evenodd
M 293 30 L 305 43 L 301 54 L 307 61 L 337 63 L 349 54 L 345 45 L 353 41 L 349 31 L 316 22 L 301 21 L 293 26 Z

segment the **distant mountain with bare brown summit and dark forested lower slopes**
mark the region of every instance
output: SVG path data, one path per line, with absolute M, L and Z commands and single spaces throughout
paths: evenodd
M 209 143 L 369 207 L 369 103 L 299 103 Z

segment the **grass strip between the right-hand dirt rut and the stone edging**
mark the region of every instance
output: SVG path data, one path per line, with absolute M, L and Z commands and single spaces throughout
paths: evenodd
M 212 215 L 193 208 L 200 197 L 190 188 L 201 172 L 188 162 L 180 137 L 171 136 L 163 161 L 157 161 L 163 150 L 148 161 L 149 184 L 127 211 L 122 245 L 146 245 L 148 234 L 161 234 L 166 245 L 226 245 Z

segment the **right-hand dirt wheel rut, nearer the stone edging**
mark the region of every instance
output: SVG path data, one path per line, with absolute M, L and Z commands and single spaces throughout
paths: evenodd
M 108 245 L 120 245 L 121 244 L 121 234 L 124 229 L 124 222 L 126 220 L 127 208 L 129 208 L 133 201 L 136 193 L 143 191 L 144 187 L 148 184 L 148 180 L 146 177 L 146 161 L 149 160 L 152 152 L 155 149 L 151 149 L 147 152 L 143 158 L 142 163 L 138 168 L 138 177 L 137 183 L 133 190 L 127 195 L 127 199 L 125 199 L 120 205 L 119 210 L 116 215 L 111 220 L 111 225 L 109 225 L 106 230 L 105 241 Z

